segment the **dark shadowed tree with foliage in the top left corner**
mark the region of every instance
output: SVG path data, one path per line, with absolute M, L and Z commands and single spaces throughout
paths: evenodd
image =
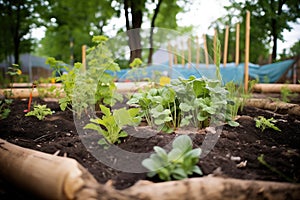
M 40 0 L 1 0 L 0 61 L 14 55 L 19 63 L 19 54 L 31 52 L 35 41 L 28 37 L 30 29 L 41 25 L 39 13 L 46 8 Z M 9 60 L 7 60 L 9 61 Z

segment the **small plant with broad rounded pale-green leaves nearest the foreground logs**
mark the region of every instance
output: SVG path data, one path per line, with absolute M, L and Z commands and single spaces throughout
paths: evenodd
M 201 149 L 193 149 L 192 140 L 187 135 L 177 137 L 172 143 L 172 150 L 167 153 L 159 146 L 154 147 L 154 154 L 142 161 L 142 165 L 150 172 L 149 177 L 158 175 L 161 180 L 188 178 L 193 173 L 202 175 L 196 165 L 199 161 Z

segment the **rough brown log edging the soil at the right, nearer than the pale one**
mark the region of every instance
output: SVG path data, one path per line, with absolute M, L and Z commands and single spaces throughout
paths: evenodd
M 282 101 L 272 101 L 271 99 L 248 99 L 246 106 L 271 110 L 278 113 L 300 116 L 300 105 L 285 103 Z

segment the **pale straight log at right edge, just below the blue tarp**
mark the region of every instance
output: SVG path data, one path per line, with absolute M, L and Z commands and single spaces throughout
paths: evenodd
M 263 93 L 280 93 L 282 88 L 288 88 L 291 92 L 299 92 L 300 93 L 300 85 L 299 84 L 255 84 L 253 86 L 253 90 L 255 92 L 263 92 Z

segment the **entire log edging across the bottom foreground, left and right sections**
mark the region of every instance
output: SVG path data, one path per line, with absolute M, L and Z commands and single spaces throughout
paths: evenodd
M 0 175 L 43 199 L 299 199 L 300 185 L 231 178 L 139 181 L 125 190 L 98 184 L 75 160 L 18 147 L 0 139 Z

